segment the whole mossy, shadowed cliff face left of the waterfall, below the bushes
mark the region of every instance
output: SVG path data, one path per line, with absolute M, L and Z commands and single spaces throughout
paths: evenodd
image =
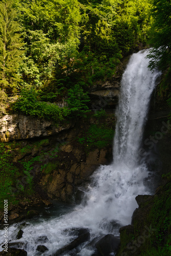
M 99 127 L 99 133 L 103 129 L 111 133 L 114 115 L 99 119 L 90 113 L 76 124 L 66 122 L 59 127 L 23 115 L 1 118 L 0 197 L 5 190 L 9 203 L 28 201 L 34 195 L 79 203 L 91 174 L 112 159 L 112 137 L 98 146 L 89 138 L 90 127 L 98 137 Z M 18 210 L 12 216 L 17 218 Z

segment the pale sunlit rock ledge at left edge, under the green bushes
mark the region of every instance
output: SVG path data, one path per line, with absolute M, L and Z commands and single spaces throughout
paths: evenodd
M 19 114 L 5 115 L 0 119 L 0 141 L 46 137 L 72 126 L 72 123 L 65 122 L 57 127 L 49 120 Z

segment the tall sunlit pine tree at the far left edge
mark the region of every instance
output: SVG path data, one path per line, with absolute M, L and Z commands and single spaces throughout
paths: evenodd
M 17 73 L 22 60 L 23 46 L 17 11 L 13 0 L 0 2 L 0 88 L 4 92 L 15 92 L 20 76 Z

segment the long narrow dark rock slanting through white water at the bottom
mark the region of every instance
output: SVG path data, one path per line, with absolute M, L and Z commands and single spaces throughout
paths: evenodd
M 80 230 L 81 229 L 82 228 L 80 228 Z M 52 254 L 52 256 L 59 256 L 63 252 L 70 251 L 70 250 L 76 248 L 78 245 L 82 244 L 83 242 L 88 241 L 89 239 L 90 239 L 90 232 L 82 233 L 78 238 L 76 238 L 70 244 L 58 249 L 54 254 Z

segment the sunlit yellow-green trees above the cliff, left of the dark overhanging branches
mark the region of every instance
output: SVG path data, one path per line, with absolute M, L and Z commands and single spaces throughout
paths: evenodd
M 23 88 L 54 93 L 56 102 L 76 87 L 86 93 L 145 46 L 150 10 L 151 0 L 0 1 L 3 97 Z

